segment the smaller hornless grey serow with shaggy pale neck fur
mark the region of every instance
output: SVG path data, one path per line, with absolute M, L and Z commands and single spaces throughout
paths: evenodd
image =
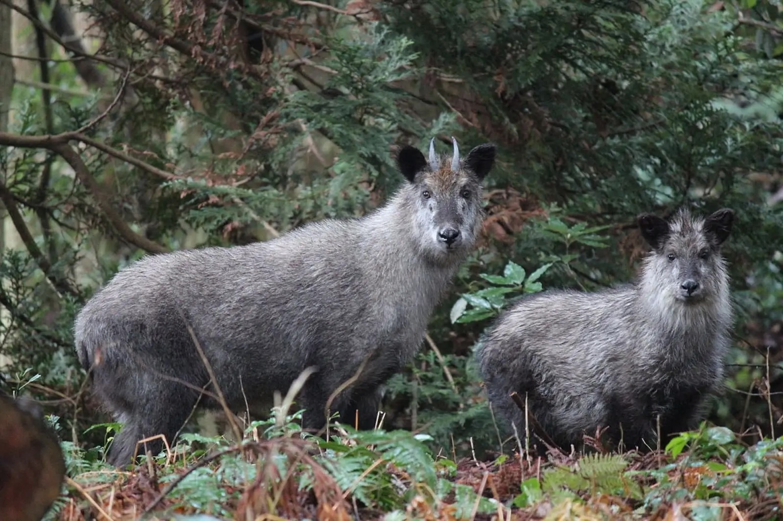
M 734 212 L 637 221 L 652 250 L 636 282 L 525 296 L 482 336 L 476 357 L 490 404 L 520 437 L 514 392 L 561 448 L 605 428 L 604 441 L 641 451 L 659 433 L 665 443 L 698 427 L 720 393 L 733 322 L 720 246 Z

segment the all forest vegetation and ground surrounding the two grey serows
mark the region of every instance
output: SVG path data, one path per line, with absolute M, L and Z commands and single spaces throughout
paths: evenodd
M 783 519 L 781 78 L 781 0 L 0 0 L 0 391 L 63 447 L 46 519 Z M 433 136 L 499 160 L 379 429 L 312 437 L 284 401 L 106 465 L 121 426 L 73 338 L 96 290 L 146 254 L 364 215 L 403 182 L 395 147 Z M 630 281 L 634 216 L 680 206 L 738 215 L 702 427 L 644 455 L 501 434 L 485 327 L 518 296 Z

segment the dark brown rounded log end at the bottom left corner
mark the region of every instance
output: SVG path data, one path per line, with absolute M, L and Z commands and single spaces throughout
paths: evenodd
M 40 521 L 60 495 L 63 451 L 33 409 L 0 393 L 0 519 Z

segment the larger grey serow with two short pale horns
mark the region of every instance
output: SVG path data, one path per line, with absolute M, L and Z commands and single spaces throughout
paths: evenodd
M 233 411 L 269 412 L 305 368 L 298 395 L 305 429 L 330 411 L 359 429 L 377 420 L 381 386 L 419 350 L 482 228 L 482 180 L 495 146 L 460 159 L 413 146 L 396 156 L 406 182 L 364 217 L 328 219 L 270 241 L 143 258 L 89 300 L 75 322 L 79 360 L 94 392 L 123 429 L 107 460 L 131 462 L 138 440 L 169 443 L 193 409 L 217 408 L 188 325 Z M 160 439 L 147 451 L 161 451 Z M 143 447 L 139 448 L 143 452 Z

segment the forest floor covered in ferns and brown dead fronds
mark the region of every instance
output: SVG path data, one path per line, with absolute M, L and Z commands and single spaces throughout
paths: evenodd
M 326 442 L 278 427 L 243 444 L 183 435 L 126 470 L 66 444 L 70 478 L 48 519 L 783 519 L 783 437 L 746 446 L 704 427 L 647 454 L 455 462 L 410 432 Z

